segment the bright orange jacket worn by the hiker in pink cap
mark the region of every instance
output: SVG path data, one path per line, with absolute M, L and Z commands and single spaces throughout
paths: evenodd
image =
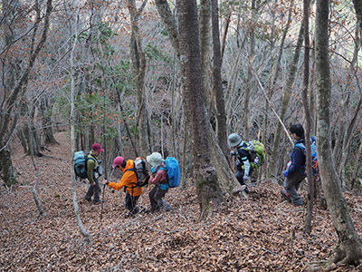
M 124 186 L 126 186 L 127 191 L 131 196 L 138 197 L 139 195 L 141 195 L 143 190 L 141 187 L 136 186 L 136 184 L 138 183 L 136 173 L 132 170 L 126 172 L 126 170 L 132 168 L 134 168 L 133 160 L 127 160 L 126 168 L 122 169 L 122 179 L 119 180 L 119 183 L 110 182 L 108 186 L 110 186 L 110 188 L 112 189 L 122 189 Z M 136 188 L 132 189 L 132 187 L 135 186 Z

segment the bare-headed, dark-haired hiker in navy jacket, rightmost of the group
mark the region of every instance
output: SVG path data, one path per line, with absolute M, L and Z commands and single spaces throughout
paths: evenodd
M 300 123 L 296 123 L 291 125 L 289 131 L 295 142 L 291 151 L 291 162 L 288 164 L 288 169 L 283 172 L 286 179 L 284 180 L 284 189 L 281 189 L 281 196 L 291 202 L 293 206 L 303 206 L 303 200 L 297 191 L 301 181 L 305 178 L 306 156 L 297 144 L 305 146 L 304 129 Z

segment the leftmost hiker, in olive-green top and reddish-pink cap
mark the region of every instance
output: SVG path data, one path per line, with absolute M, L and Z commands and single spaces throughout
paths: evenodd
M 84 197 L 87 201 L 93 201 L 94 204 L 100 203 L 100 173 L 99 169 L 99 160 L 100 152 L 103 152 L 99 143 L 94 143 L 91 146 L 90 154 L 87 157 L 87 179 L 90 181 L 90 187 L 87 190 L 87 193 Z M 91 197 L 93 197 L 91 199 Z

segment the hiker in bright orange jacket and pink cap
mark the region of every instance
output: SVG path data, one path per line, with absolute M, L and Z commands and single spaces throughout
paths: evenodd
M 142 194 L 143 189 L 139 187 L 138 177 L 134 169 L 134 160 L 124 160 L 123 157 L 116 157 L 113 160 L 112 167 L 117 168 L 123 172 L 122 178 L 118 183 L 103 180 L 103 184 L 108 185 L 112 189 L 122 189 L 125 187 L 126 193 L 126 209 L 129 209 L 129 213 L 126 218 L 134 216 L 138 213 L 137 201 Z

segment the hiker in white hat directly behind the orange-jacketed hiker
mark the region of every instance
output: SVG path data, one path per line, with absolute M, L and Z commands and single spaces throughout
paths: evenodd
M 168 205 L 166 200 L 163 199 L 169 189 L 167 168 L 165 160 L 162 159 L 162 155 L 158 152 L 153 152 L 147 156 L 146 160 L 152 166 L 151 172 L 155 174 L 155 177 L 151 176 L 149 178 L 149 182 L 154 187 L 148 193 L 149 200 L 151 201 L 151 209 L 149 211 L 153 213 Z

